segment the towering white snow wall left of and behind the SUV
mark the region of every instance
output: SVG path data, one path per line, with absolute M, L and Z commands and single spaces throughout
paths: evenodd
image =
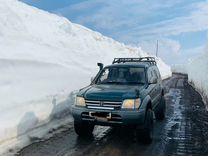
M 97 62 L 142 56 L 147 54 L 141 48 L 66 18 L 17 0 L 0 0 L 0 150 L 70 111 L 71 92 L 89 84 Z M 170 67 L 157 62 L 162 77 L 170 76 Z

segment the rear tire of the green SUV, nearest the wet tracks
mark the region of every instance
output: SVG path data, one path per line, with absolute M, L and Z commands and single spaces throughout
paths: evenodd
M 163 120 L 165 118 L 166 102 L 164 96 L 161 97 L 158 110 L 155 113 L 157 120 Z

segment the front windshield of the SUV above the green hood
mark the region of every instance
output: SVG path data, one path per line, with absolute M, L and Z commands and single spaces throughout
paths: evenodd
M 144 84 L 145 72 L 141 67 L 109 67 L 103 69 L 96 84 Z

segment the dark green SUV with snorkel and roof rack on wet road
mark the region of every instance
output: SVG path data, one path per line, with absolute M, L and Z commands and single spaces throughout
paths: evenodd
M 89 86 L 80 89 L 72 107 L 75 132 L 91 135 L 95 125 L 134 127 L 150 143 L 154 116 L 165 117 L 162 79 L 154 57 L 115 58 Z

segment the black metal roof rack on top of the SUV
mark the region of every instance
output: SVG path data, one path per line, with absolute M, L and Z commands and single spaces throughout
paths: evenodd
M 126 62 L 147 62 L 151 65 L 156 65 L 154 57 L 138 57 L 138 58 L 114 58 L 112 64 L 126 63 Z

